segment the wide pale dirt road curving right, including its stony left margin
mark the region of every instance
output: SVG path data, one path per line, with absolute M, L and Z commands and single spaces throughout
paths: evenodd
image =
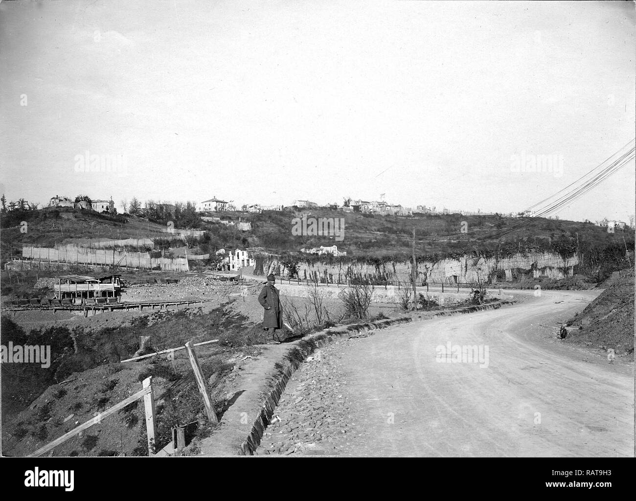
M 258 453 L 633 456 L 632 366 L 556 338 L 599 291 L 516 292 L 515 306 L 323 349 L 287 385 Z

